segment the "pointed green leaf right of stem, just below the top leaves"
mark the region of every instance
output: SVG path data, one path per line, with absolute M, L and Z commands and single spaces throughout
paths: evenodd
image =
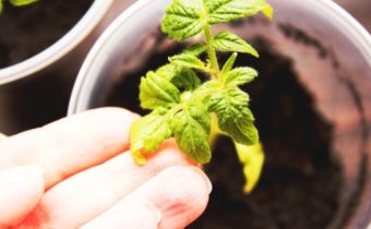
M 237 51 L 259 57 L 258 51 L 239 36 L 224 31 L 215 35 L 213 46 L 220 51 Z

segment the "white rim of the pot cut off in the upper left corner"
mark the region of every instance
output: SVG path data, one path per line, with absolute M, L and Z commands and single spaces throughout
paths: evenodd
M 95 0 L 80 21 L 55 44 L 22 62 L 0 69 L 0 85 L 45 69 L 75 48 L 100 22 L 112 0 Z

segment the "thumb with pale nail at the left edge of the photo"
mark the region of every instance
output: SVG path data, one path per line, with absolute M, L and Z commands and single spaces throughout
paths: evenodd
M 39 166 L 0 170 L 0 228 L 19 225 L 35 208 L 44 189 Z

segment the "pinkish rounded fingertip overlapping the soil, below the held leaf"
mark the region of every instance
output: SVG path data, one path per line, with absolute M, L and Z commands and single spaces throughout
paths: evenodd
M 161 212 L 159 229 L 182 229 L 206 208 L 212 183 L 196 167 L 171 167 L 127 198 L 147 200 Z

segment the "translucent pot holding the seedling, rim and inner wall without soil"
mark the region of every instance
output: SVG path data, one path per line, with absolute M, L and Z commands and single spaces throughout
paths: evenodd
M 158 31 L 169 1 L 139 1 L 110 25 L 80 71 L 69 114 L 105 106 L 107 92 L 124 75 L 125 60 L 145 58 L 143 40 Z M 371 219 L 371 37 L 332 1 L 271 2 L 273 22 L 259 17 L 248 23 L 249 29 L 238 24 L 230 29 L 247 38 L 264 37 L 292 59 L 316 110 L 334 124 L 333 148 L 344 181 L 340 206 L 327 228 L 366 229 Z

